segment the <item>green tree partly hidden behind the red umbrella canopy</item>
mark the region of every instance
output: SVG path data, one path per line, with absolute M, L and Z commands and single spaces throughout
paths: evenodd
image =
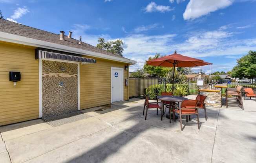
M 152 59 L 155 59 L 155 58 L 159 58 L 161 56 L 161 54 L 159 53 L 156 53 L 155 56 L 152 58 L 152 57 L 149 57 L 148 60 L 152 60 Z M 148 74 L 150 74 L 150 76 L 154 77 L 154 78 L 161 78 L 161 77 L 164 77 L 165 74 L 172 70 L 172 68 L 169 68 L 169 67 L 161 67 L 161 66 L 152 66 L 152 65 L 147 65 L 147 64 L 144 64 L 144 67 L 143 67 L 144 71 Z

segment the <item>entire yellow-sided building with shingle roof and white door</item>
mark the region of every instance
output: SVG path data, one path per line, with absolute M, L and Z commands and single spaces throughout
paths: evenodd
M 125 80 L 134 63 L 71 32 L 0 19 L 0 125 L 128 100 Z

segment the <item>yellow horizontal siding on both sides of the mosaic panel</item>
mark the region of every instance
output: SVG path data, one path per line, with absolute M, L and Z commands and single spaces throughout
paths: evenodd
M 127 65 L 95 59 L 96 64 L 80 64 L 80 109 L 111 103 L 111 67 L 124 69 Z M 9 71 L 21 72 L 21 81 L 16 86 L 9 82 Z M 35 48 L 0 42 L 0 125 L 39 117 L 38 71 Z M 124 70 L 124 100 L 129 100 L 126 78 L 128 71 Z

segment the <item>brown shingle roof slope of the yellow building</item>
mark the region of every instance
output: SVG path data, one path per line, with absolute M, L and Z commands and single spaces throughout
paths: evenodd
M 27 25 L 18 24 L 15 22 L 11 22 L 5 19 L 0 19 L 0 31 L 10 34 L 15 34 L 19 36 L 24 36 L 27 38 L 33 38 L 36 40 L 51 42 L 51 43 L 57 43 L 60 45 L 65 45 L 68 47 L 73 47 L 77 49 L 87 50 L 95 53 L 101 53 L 106 54 L 109 56 L 115 56 L 119 58 L 125 58 L 122 56 L 119 56 L 117 54 L 112 54 L 108 51 L 104 51 L 102 49 L 99 49 L 93 45 L 90 45 L 88 43 L 82 42 L 81 45 L 79 45 L 79 40 L 76 40 L 74 38 L 68 38 L 68 36 L 64 36 L 65 40 L 60 40 L 60 34 L 50 33 L 47 31 L 43 31 L 40 29 L 36 29 L 33 27 L 29 27 Z M 128 58 L 125 58 L 128 59 Z M 129 60 L 129 59 L 128 59 Z

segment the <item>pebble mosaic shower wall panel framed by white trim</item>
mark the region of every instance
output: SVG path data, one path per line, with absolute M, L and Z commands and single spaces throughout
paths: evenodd
M 42 69 L 43 117 L 76 111 L 77 64 L 43 60 Z

